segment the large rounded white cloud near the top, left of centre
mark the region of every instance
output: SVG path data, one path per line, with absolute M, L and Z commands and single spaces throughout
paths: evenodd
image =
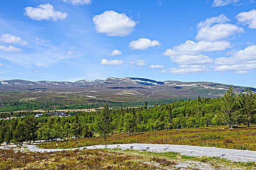
M 119 14 L 115 11 L 105 11 L 93 17 L 95 29 L 98 33 L 105 33 L 108 36 L 126 36 L 134 31 L 137 22 L 127 17 L 126 14 Z

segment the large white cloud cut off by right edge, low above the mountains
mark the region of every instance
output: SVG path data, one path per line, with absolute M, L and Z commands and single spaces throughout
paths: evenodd
M 215 59 L 216 71 L 235 71 L 235 73 L 248 73 L 247 70 L 256 69 L 256 46 L 249 46 L 244 50 L 236 51 L 230 57 Z

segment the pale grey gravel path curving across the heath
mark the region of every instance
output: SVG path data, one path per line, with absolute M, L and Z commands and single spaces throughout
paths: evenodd
M 232 161 L 254 161 L 256 162 L 256 151 L 244 151 L 244 150 L 234 150 L 234 149 L 222 149 L 215 147 L 200 147 L 200 146 L 189 146 L 189 145 L 163 145 L 163 144 L 118 144 L 118 145 L 96 145 L 96 146 L 87 146 L 82 148 L 73 148 L 73 149 L 39 149 L 36 145 L 26 145 L 27 150 L 32 152 L 55 152 L 55 151 L 64 151 L 64 150 L 76 150 L 76 149 L 133 149 L 133 150 L 142 150 L 148 152 L 176 152 L 182 155 L 187 156 L 216 156 L 221 158 L 226 158 Z

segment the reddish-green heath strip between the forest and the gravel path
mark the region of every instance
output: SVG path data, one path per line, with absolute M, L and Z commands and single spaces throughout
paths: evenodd
M 239 127 L 236 129 L 228 129 L 224 126 L 202 127 L 180 129 L 178 132 L 176 130 L 145 132 L 132 136 L 114 134 L 108 136 L 106 142 L 103 141 L 102 137 L 91 137 L 41 143 L 38 146 L 45 149 L 66 149 L 122 143 L 178 144 L 256 151 L 256 127 Z

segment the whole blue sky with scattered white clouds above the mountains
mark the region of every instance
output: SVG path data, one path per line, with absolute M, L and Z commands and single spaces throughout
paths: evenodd
M 0 80 L 256 87 L 256 0 L 1 0 Z

